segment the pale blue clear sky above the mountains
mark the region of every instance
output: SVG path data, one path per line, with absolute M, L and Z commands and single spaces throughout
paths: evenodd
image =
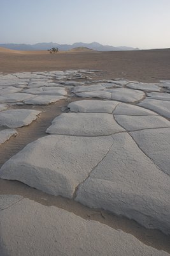
M 0 0 L 0 44 L 170 47 L 170 0 Z

